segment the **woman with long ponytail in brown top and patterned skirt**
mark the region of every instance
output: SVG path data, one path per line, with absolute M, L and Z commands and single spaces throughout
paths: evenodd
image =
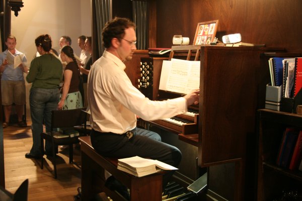
M 60 56 L 62 61 L 65 61 L 67 65 L 64 70 L 64 83 L 58 109 L 71 110 L 83 108 L 82 96 L 79 91 L 80 70 L 74 58 L 72 48 L 69 45 L 63 46 Z

